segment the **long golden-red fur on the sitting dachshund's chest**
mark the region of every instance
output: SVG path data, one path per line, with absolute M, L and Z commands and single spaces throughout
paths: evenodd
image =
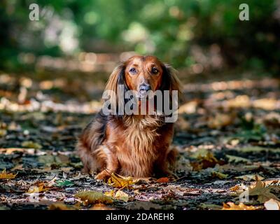
M 118 141 L 116 150 L 122 174 L 151 175 L 154 162 L 160 155 L 158 141 L 162 124 L 162 119 L 155 116 L 124 118 L 124 129 L 119 133 L 123 141 Z

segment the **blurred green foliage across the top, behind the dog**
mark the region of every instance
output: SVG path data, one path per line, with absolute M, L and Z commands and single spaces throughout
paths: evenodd
M 196 63 L 190 56 L 192 45 L 216 44 L 229 66 L 279 71 L 276 0 L 246 1 L 249 21 L 239 20 L 241 0 L 35 2 L 43 10 L 39 21 L 29 20 L 34 1 L 1 1 L 0 67 L 18 66 L 20 52 L 60 56 L 122 50 L 188 67 Z

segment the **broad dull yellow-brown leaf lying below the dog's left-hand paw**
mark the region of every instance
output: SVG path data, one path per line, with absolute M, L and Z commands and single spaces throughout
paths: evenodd
M 80 191 L 75 195 L 79 197 L 80 200 L 84 201 L 85 204 L 95 204 L 95 203 L 104 203 L 111 204 L 113 203 L 112 197 L 102 194 L 101 192 L 89 190 L 89 191 Z

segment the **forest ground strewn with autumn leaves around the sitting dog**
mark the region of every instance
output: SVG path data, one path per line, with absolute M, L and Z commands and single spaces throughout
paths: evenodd
M 186 84 L 178 178 L 102 183 L 75 144 L 104 83 L 57 77 L 0 75 L 0 209 L 279 209 L 279 80 Z

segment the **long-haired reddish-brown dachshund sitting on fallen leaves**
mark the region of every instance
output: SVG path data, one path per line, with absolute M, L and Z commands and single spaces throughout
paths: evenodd
M 152 90 L 177 90 L 181 85 L 174 69 L 157 57 L 134 56 L 114 69 L 105 90 L 125 91 L 141 95 Z M 117 101 L 120 99 L 117 99 Z M 139 101 L 141 104 L 141 100 Z M 168 175 L 176 160 L 176 151 L 169 148 L 174 123 L 165 123 L 158 115 L 105 115 L 100 111 L 85 127 L 78 139 L 78 155 L 85 172 L 97 172 L 96 179 L 106 180 L 112 172 L 134 177 Z

